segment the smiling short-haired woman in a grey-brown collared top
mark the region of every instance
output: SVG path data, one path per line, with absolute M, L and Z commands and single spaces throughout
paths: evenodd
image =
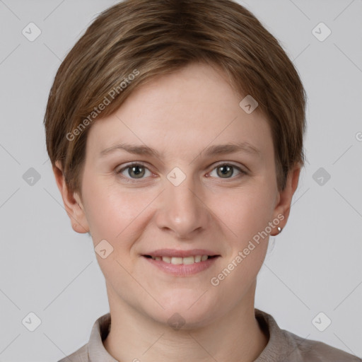
M 110 313 L 62 361 L 361 361 L 254 306 L 303 167 L 305 102 L 277 40 L 232 1 L 128 0 L 95 19 L 45 128 Z

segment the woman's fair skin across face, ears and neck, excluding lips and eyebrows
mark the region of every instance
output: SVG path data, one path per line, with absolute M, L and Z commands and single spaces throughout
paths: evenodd
M 269 124 L 258 109 L 247 114 L 239 106 L 243 97 L 221 70 L 189 64 L 141 86 L 92 125 L 83 202 L 66 188 L 59 163 L 54 167 L 74 230 L 90 231 L 94 247 L 104 239 L 113 247 L 105 259 L 96 257 L 112 317 L 103 344 L 118 361 L 247 362 L 267 345 L 254 301 L 269 235 L 218 286 L 210 282 L 278 215 L 284 220 L 277 226 L 284 228 L 298 186 L 300 165 L 278 191 Z M 259 156 L 202 153 L 240 141 L 258 148 Z M 127 151 L 100 157 L 120 142 L 155 148 L 160 158 Z M 125 168 L 136 161 L 146 167 L 141 179 Z M 223 176 L 223 163 L 235 165 L 233 173 Z M 167 178 L 175 167 L 186 176 L 178 186 Z M 122 168 L 124 178 L 116 173 Z M 171 276 L 141 256 L 160 248 L 203 248 L 221 257 L 197 274 Z M 168 325 L 175 313 L 185 320 L 177 330 Z

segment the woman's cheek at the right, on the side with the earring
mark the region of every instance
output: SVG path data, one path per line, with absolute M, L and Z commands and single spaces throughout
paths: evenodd
M 214 275 L 212 285 L 218 284 L 218 292 L 230 303 L 236 302 L 230 294 L 232 291 L 240 291 L 239 298 L 242 298 L 255 281 L 267 253 L 266 228 L 271 221 L 273 204 L 270 189 L 261 185 L 240 189 L 228 199 L 228 207 L 224 204 L 218 214 L 229 235 L 225 240 L 228 255 Z

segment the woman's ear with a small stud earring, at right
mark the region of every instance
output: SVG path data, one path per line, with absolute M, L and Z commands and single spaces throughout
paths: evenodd
M 279 219 L 281 220 L 281 222 L 279 223 L 279 225 L 274 226 L 274 234 L 272 235 L 279 234 L 277 227 L 279 226 L 281 228 L 284 228 L 286 225 L 286 221 L 288 221 L 288 217 L 291 211 L 291 199 L 298 187 L 300 168 L 300 163 L 296 163 L 296 165 L 291 168 L 286 179 L 286 187 L 284 187 L 284 189 L 279 192 L 279 201 L 275 206 L 273 219 Z M 282 218 L 281 215 L 283 215 L 284 218 Z

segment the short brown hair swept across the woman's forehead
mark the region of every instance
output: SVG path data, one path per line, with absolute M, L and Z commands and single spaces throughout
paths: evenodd
M 81 197 L 87 133 L 106 98 L 98 118 L 153 77 L 190 62 L 218 66 L 235 91 L 257 100 L 271 127 L 277 185 L 284 189 L 291 167 L 304 165 L 306 95 L 276 38 L 231 0 L 125 0 L 95 18 L 59 66 L 49 93 L 47 152 L 53 167 L 59 160 L 71 192 Z

